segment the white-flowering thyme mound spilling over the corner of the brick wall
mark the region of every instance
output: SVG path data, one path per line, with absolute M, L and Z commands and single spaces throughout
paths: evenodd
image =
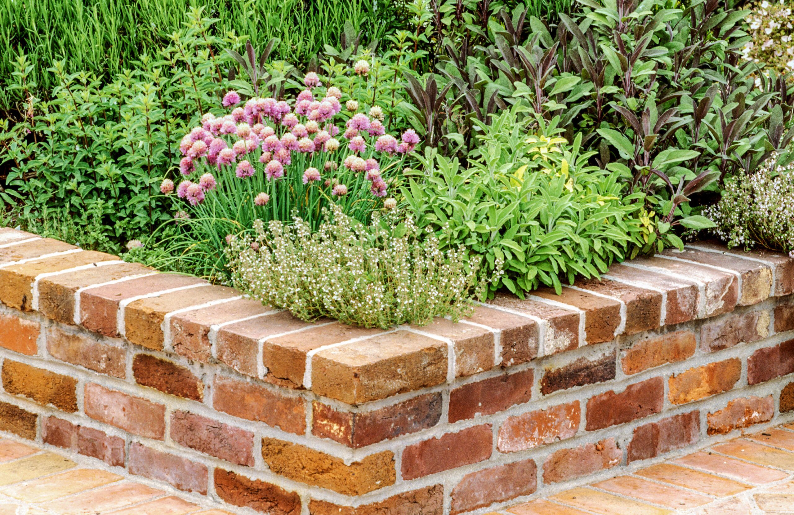
M 257 220 L 254 231 L 226 250 L 234 286 L 306 321 L 331 317 L 382 329 L 437 316 L 457 321 L 485 292 L 479 261 L 464 248 L 440 251 L 411 217 L 389 213 L 362 225 L 337 209 L 315 233 L 300 218 L 267 228 Z

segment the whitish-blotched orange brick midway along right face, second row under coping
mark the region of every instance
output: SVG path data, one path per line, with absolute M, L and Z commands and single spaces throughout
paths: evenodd
M 526 451 L 565 440 L 579 431 L 579 401 L 509 417 L 499 428 L 499 452 Z

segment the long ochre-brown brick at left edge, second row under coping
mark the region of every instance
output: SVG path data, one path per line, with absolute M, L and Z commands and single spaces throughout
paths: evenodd
M 7 393 L 40 405 L 77 411 L 77 381 L 71 377 L 6 359 L 2 363 L 2 386 Z

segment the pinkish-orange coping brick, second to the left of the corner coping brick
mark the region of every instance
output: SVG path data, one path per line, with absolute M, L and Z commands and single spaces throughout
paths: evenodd
M 306 329 L 310 326 L 287 311 L 226 325 L 218 331 L 216 338 L 218 359 L 238 372 L 258 377 L 257 361 L 260 340 L 283 332 Z M 304 363 L 305 361 L 304 358 Z M 273 376 L 269 380 L 274 382 L 272 379 L 274 379 Z M 300 377 L 299 384 L 303 384 L 303 375 Z M 281 384 L 280 386 L 286 385 Z

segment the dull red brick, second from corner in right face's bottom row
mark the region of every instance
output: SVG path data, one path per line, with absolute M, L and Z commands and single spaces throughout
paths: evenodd
M 532 459 L 464 475 L 452 491 L 451 512 L 463 513 L 533 494 L 538 488 L 538 467 Z

